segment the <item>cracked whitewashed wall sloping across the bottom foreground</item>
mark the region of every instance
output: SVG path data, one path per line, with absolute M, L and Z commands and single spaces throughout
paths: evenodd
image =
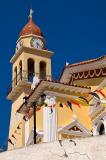
M 76 145 L 75 145 L 76 144 Z M 66 152 L 66 154 L 65 154 Z M 65 158 L 64 155 L 68 157 Z M 106 136 L 29 146 L 0 154 L 0 160 L 106 160 Z

